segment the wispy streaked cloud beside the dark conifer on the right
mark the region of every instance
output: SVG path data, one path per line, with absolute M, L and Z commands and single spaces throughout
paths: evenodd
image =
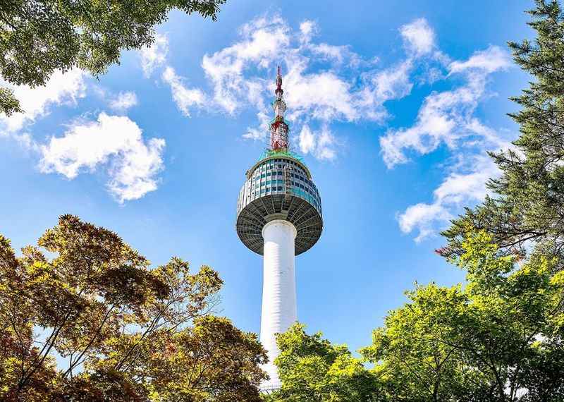
M 508 53 L 494 46 L 476 51 L 466 61 L 451 62 L 448 75 L 462 75 L 465 84 L 431 93 L 424 99 L 413 126 L 388 130 L 380 138 L 388 168 L 408 162 L 407 151 L 427 154 L 441 144 L 447 145 L 453 152 L 452 159 L 459 161 L 446 170 L 446 177 L 434 190 L 432 202 L 412 205 L 399 214 L 401 231 L 417 230 L 417 242 L 434 235 L 463 206 L 483 200 L 488 179 L 499 175 L 486 151 L 506 149 L 510 142 L 506 133 L 482 123 L 476 109 L 486 95 L 489 75 L 510 65 Z

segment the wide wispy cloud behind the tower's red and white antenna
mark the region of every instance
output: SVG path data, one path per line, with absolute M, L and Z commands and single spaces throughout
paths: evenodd
M 434 32 L 425 20 L 404 25 L 400 32 L 408 54 L 391 67 L 379 68 L 375 57 L 362 59 L 346 44 L 315 42 L 319 27 L 312 20 L 302 21 L 294 31 L 280 16 L 256 18 L 243 25 L 238 41 L 202 58 L 202 69 L 212 87 L 209 94 L 187 87 L 171 66 L 164 68 L 161 79 L 170 85 L 173 99 L 185 116 L 190 116 L 194 107 L 232 115 L 244 107 L 254 107 L 259 125 L 241 134 L 245 139 L 263 141 L 273 113 L 269 104 L 274 71 L 282 65 L 286 67 L 283 88 L 290 124 L 304 128 L 304 133 L 314 133 L 315 145 L 309 153 L 318 159 L 334 159 L 341 144 L 331 134 L 331 123 L 383 122 L 388 117 L 384 103 L 405 97 L 412 90 L 414 52 L 422 56 L 434 50 Z M 157 35 L 152 47 L 142 49 L 147 76 L 166 64 L 167 51 L 164 35 Z M 438 58 L 431 54 L 430 60 L 436 63 Z

